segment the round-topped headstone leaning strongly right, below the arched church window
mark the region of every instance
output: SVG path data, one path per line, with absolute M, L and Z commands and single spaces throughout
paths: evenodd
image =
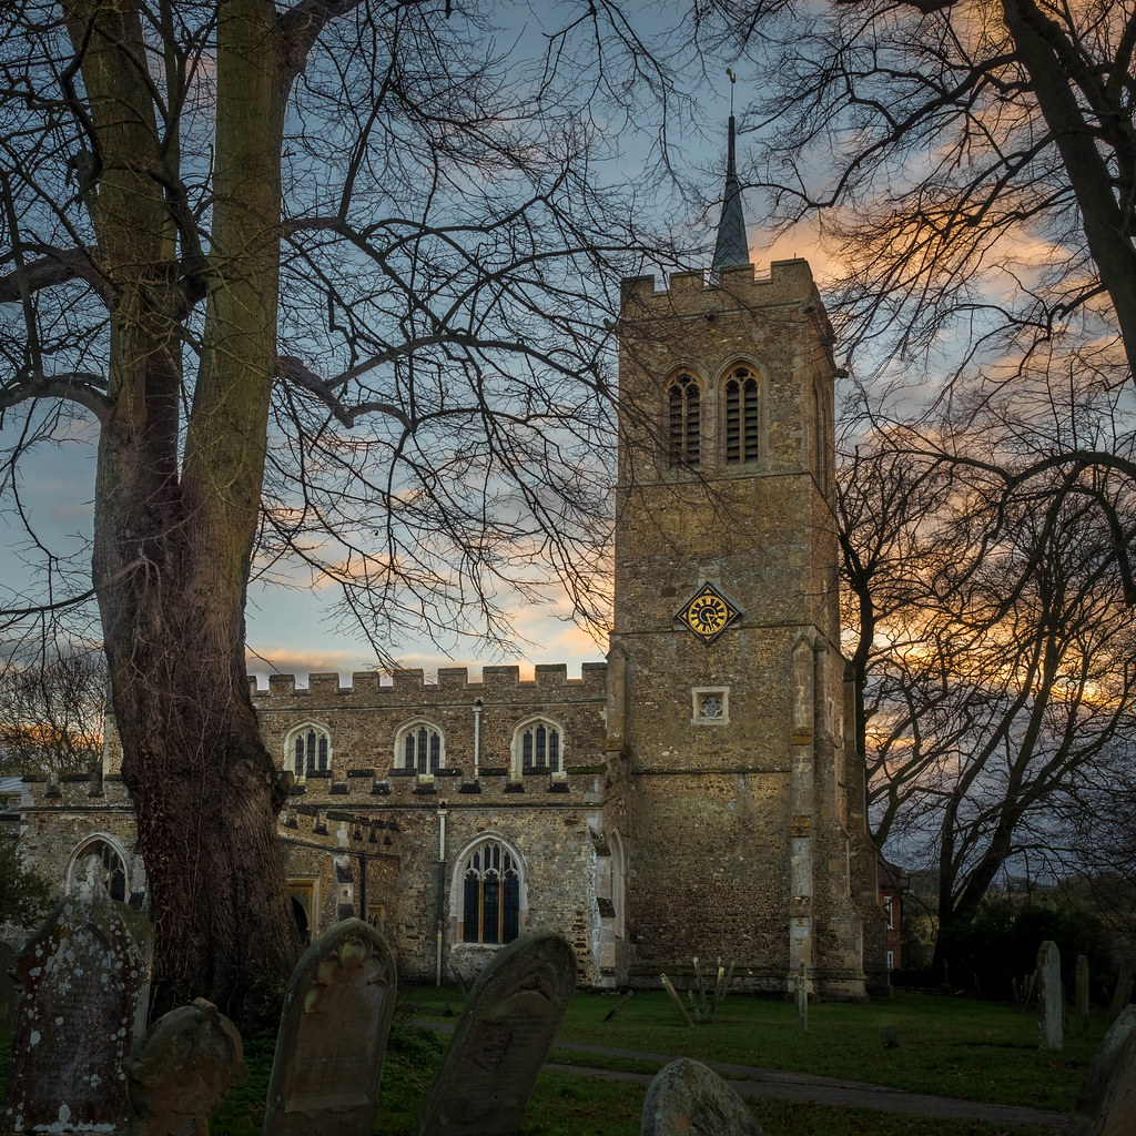
M 576 952 L 559 935 L 502 947 L 470 992 L 418 1136 L 515 1133 L 575 988 Z

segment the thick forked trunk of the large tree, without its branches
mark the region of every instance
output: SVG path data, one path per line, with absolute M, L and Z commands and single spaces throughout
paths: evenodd
M 270 0 L 218 3 L 201 362 L 181 429 L 185 301 L 133 0 L 73 0 L 98 145 L 89 204 L 111 294 L 94 582 L 157 932 L 156 1010 L 206 996 L 272 1020 L 296 947 L 279 778 L 244 667 L 279 259 L 283 82 Z M 184 450 L 178 460 L 179 446 Z

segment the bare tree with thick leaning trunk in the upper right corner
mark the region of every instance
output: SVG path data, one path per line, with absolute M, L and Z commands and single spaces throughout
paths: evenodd
M 832 243 L 850 351 L 942 376 L 1076 349 L 1131 374 L 1130 0 L 702 9 L 776 77 L 749 108 L 750 181 Z

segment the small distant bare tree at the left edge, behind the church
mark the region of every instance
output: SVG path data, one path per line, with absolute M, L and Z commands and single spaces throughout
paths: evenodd
M 70 649 L 0 671 L 0 770 L 89 772 L 102 761 L 107 665 L 101 651 Z

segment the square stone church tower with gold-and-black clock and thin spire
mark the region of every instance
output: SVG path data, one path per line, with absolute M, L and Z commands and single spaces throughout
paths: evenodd
M 804 260 L 749 262 L 734 119 L 709 274 L 624 282 L 608 749 L 619 971 L 864 994 L 863 774 L 844 745 L 832 328 Z M 870 908 L 870 911 L 869 911 Z

